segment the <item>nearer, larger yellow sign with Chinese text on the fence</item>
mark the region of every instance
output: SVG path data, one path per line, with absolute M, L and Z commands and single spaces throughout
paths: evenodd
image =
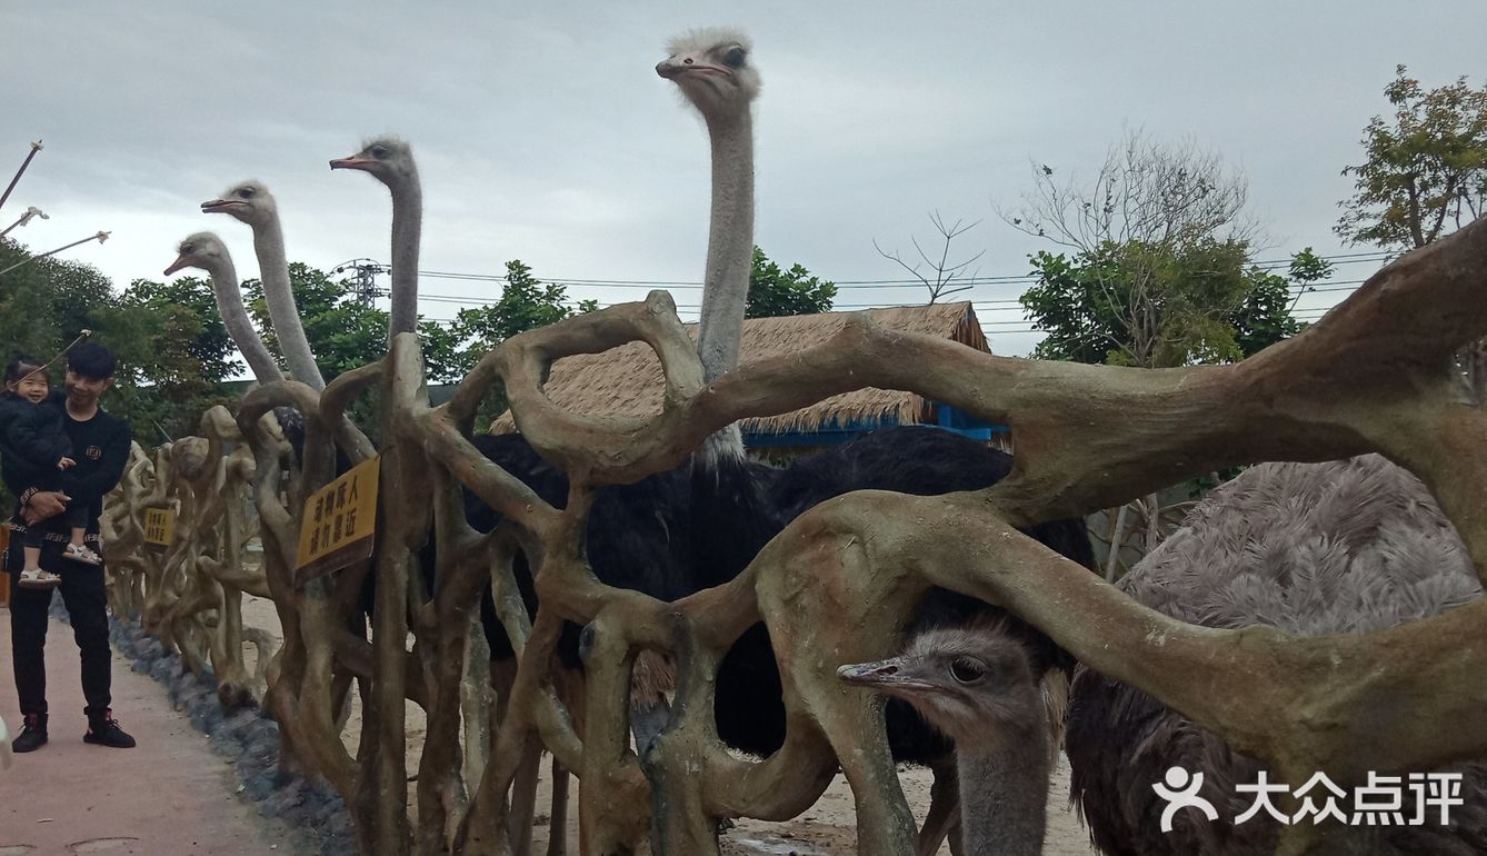
M 358 463 L 311 494 L 299 527 L 294 585 L 372 555 L 381 463 L 381 456 Z

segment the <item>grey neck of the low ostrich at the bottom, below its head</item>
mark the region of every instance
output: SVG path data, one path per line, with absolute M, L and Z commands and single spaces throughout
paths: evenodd
M 1048 728 L 1035 724 L 996 746 L 956 743 L 965 853 L 1038 856 L 1047 825 Z

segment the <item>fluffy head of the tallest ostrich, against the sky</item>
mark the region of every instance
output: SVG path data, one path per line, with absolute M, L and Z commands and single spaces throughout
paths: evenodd
M 656 73 L 681 86 L 687 101 L 708 121 L 748 110 L 758 95 L 758 71 L 749 63 L 752 46 L 744 33 L 721 27 L 693 30 L 677 37 Z

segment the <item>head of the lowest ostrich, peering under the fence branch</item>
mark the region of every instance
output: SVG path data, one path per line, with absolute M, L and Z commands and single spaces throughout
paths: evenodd
M 901 655 L 842 665 L 837 677 L 907 701 L 956 746 L 1047 728 L 1028 652 L 1001 624 L 931 628 Z

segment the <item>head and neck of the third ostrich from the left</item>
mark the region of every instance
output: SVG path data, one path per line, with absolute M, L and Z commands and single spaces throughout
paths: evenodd
M 387 185 L 393 195 L 393 311 L 387 339 L 418 328 L 418 244 L 424 222 L 424 191 L 407 143 L 378 137 L 349 158 L 336 158 L 332 170 L 361 170 Z

